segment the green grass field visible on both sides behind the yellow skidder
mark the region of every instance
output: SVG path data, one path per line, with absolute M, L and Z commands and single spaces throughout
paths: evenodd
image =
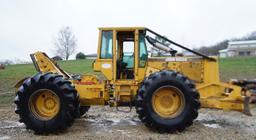
M 60 61 L 59 65 L 69 73 L 92 73 L 93 60 Z M 256 57 L 237 57 L 220 59 L 220 74 L 223 81 L 231 78 L 256 78 Z M 16 82 L 35 74 L 33 64 L 17 64 L 0 70 L 0 104 L 10 103 L 13 100 Z

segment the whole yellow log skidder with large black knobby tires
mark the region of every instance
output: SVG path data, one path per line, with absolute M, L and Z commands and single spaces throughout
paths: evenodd
M 159 40 L 194 55 L 178 54 Z M 153 50 L 165 53 L 152 57 Z M 99 28 L 93 70 L 104 76 L 101 79 L 71 75 L 42 52 L 31 58 L 38 73 L 16 84 L 15 112 L 37 133 L 65 130 L 93 105 L 119 111 L 134 106 L 145 126 L 181 132 L 197 118 L 200 107 L 251 115 L 250 103 L 255 101 L 256 81 L 220 82 L 217 58 L 144 27 Z

